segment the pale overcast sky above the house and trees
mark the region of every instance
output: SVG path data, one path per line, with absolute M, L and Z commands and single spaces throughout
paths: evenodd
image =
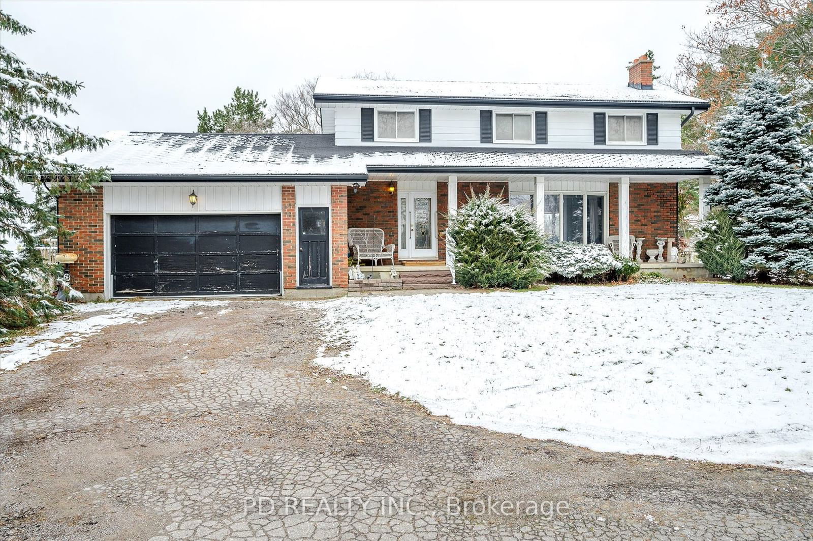
M 306 77 L 626 85 L 654 50 L 672 72 L 706 2 L 41 2 L 0 8 L 31 68 L 84 81 L 67 120 L 89 133 L 194 131 L 235 86 L 272 102 Z

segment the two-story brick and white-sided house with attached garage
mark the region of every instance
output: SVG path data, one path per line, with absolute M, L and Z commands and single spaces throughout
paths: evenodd
M 395 261 L 444 262 L 447 216 L 487 187 L 554 239 L 677 236 L 677 182 L 711 171 L 680 126 L 709 103 L 653 85 L 322 78 L 321 134 L 122 133 L 66 158 L 111 183 L 59 201 L 77 289 L 279 294 L 346 287 L 347 229 L 380 228 Z

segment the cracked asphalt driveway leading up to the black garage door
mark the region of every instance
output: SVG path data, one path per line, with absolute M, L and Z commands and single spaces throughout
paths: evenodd
M 109 327 L 0 374 L 2 539 L 813 535 L 809 473 L 454 425 L 312 367 L 315 312 L 228 308 Z M 489 499 L 515 507 L 481 513 Z

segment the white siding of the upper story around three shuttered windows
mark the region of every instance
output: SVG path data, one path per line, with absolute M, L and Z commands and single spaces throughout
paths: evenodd
M 432 109 L 432 142 L 361 142 L 361 107 L 417 111 Z M 480 143 L 480 109 L 497 112 L 548 112 L 548 143 L 483 144 Z M 567 149 L 642 149 L 680 150 L 680 111 L 645 109 L 576 109 L 569 107 L 482 107 L 386 105 L 380 103 L 336 104 L 322 109 L 333 111 L 336 144 L 338 146 L 490 146 L 500 148 L 567 148 Z M 641 115 L 644 117 L 644 139 L 641 145 L 593 145 L 593 112 L 608 115 Z M 688 113 L 688 111 L 686 111 Z M 658 113 L 657 146 L 646 145 L 646 113 Z M 324 132 L 328 133 L 328 132 Z

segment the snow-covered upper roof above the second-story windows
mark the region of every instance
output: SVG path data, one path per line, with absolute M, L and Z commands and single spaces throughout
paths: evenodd
M 379 81 L 320 77 L 314 97 L 330 102 L 344 98 L 450 98 L 462 101 L 517 100 L 540 102 L 682 103 L 707 107 L 708 102 L 661 85 L 652 89 L 571 83 L 489 83 L 463 81 Z

